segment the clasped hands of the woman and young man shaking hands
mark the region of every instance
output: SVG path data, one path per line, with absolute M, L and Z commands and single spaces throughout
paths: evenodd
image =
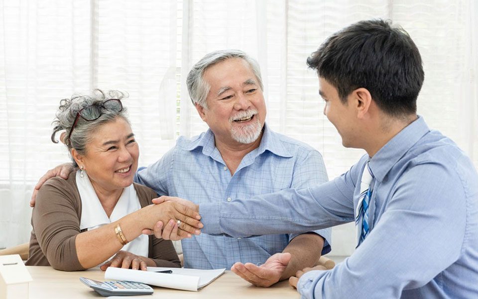
M 177 241 L 201 233 L 204 225 L 200 222 L 199 205 L 171 196 L 161 196 L 152 202 L 154 205 L 147 207 L 151 211 L 145 216 L 157 221 L 155 224 L 148 221 L 148 228 L 142 230 L 143 234 L 154 234 L 157 238 Z

